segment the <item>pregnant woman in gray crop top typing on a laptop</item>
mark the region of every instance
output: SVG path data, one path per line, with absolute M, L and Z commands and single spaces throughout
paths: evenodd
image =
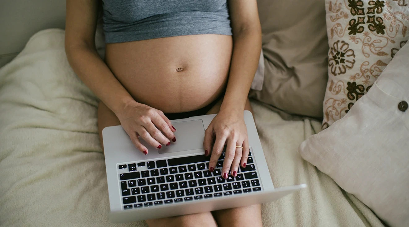
M 100 8 L 105 59 L 94 36 Z M 217 113 L 205 131 L 213 171 L 237 175 L 249 153 L 244 110 L 261 51 L 256 0 L 67 0 L 70 65 L 100 98 L 99 135 L 122 125 L 145 155 L 177 138 L 170 120 Z M 170 119 L 170 120 L 169 120 Z M 102 138 L 101 145 L 102 145 Z M 260 205 L 146 220 L 149 226 L 262 226 Z

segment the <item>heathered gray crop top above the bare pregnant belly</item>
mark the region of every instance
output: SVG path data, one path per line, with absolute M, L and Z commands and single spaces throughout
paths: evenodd
M 231 35 L 226 0 L 102 0 L 105 41 Z

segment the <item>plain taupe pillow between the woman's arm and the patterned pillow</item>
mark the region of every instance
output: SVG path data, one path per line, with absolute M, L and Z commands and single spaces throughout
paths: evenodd
M 328 38 L 322 0 L 258 0 L 264 82 L 250 97 L 292 114 L 322 117 Z

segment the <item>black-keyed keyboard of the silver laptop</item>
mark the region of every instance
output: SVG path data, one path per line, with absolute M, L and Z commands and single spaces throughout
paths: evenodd
M 151 207 L 192 200 L 261 191 L 251 153 L 236 177 L 222 178 L 224 155 L 213 173 L 205 155 L 167 158 L 117 165 L 123 209 Z

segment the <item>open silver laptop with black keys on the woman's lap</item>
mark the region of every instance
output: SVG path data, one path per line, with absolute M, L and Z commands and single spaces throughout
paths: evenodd
M 172 120 L 177 141 L 147 155 L 135 148 L 121 126 L 102 131 L 110 201 L 110 220 L 124 223 L 267 203 L 306 187 L 274 188 L 250 111 L 244 120 L 250 145 L 245 168 L 236 177 L 221 176 L 203 149 L 205 129 L 216 114 Z

